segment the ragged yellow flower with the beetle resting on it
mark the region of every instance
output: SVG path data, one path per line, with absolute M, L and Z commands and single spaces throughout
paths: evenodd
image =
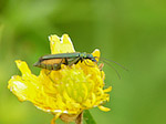
M 51 54 L 75 52 L 68 34 L 62 38 L 51 35 L 49 39 Z M 97 49 L 92 54 L 100 58 Z M 75 121 L 84 110 L 95 106 L 105 112 L 110 111 L 102 106 L 110 100 L 107 92 L 112 90 L 111 86 L 103 90 L 104 72 L 91 60 L 84 61 L 86 62 L 72 66 L 62 64 L 58 71 L 42 69 L 39 75 L 34 75 L 25 62 L 17 60 L 22 75 L 13 75 L 9 80 L 8 89 L 20 101 L 30 101 L 38 108 L 54 114 L 52 124 L 58 117 L 64 122 Z

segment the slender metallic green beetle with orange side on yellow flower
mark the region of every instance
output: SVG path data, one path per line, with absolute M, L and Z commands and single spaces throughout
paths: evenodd
M 73 53 L 48 54 L 41 56 L 39 61 L 33 65 L 46 70 L 60 70 L 61 64 L 71 66 L 72 64 L 76 64 L 79 61 L 83 62 L 83 60 L 86 59 L 97 63 L 93 54 L 86 52 L 73 52 Z

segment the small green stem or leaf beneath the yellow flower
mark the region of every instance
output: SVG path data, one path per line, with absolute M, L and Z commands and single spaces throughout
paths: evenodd
M 83 118 L 86 122 L 86 124 L 96 124 L 93 116 L 91 115 L 90 111 L 85 110 L 83 113 Z

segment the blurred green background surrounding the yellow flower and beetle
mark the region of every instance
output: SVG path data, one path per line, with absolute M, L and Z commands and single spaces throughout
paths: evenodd
M 97 124 L 166 124 L 165 0 L 1 0 L 0 124 L 50 124 L 51 114 L 19 102 L 7 89 L 20 74 L 14 60 L 32 64 L 50 53 L 50 34 L 68 33 L 76 51 L 114 60 L 122 79 L 105 65 L 111 112 L 91 110 Z M 58 123 L 63 124 L 60 120 Z

